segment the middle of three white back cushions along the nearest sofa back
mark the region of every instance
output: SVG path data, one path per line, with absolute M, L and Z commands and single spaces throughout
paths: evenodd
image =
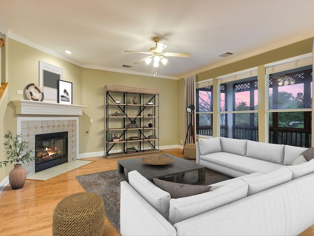
M 292 171 L 282 167 L 265 175 L 250 178 L 243 177 L 242 179 L 249 185 L 248 195 L 252 195 L 290 181 L 292 179 Z

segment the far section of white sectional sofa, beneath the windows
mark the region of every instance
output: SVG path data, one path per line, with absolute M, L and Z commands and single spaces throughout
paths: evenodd
M 293 161 L 308 148 L 229 138 L 200 139 L 196 163 L 232 177 L 269 173 Z

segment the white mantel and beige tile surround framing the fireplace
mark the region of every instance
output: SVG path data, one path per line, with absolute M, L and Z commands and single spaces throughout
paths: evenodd
M 68 132 L 68 162 L 74 161 L 78 156 L 78 116 L 82 115 L 85 106 L 63 105 L 56 103 L 44 103 L 34 101 L 12 101 L 16 106 L 17 133 L 22 134 L 21 139 L 29 142 L 29 148 L 35 150 L 35 135 L 56 132 Z M 31 114 L 27 113 L 27 107 L 31 106 Z M 21 105 L 22 104 L 22 105 Z M 38 110 L 36 107 L 38 105 Z M 60 106 L 59 106 L 60 105 Z M 45 107 L 42 109 L 41 107 Z M 74 111 L 74 110 L 75 111 Z M 73 110 L 74 114 L 69 114 Z M 71 111 L 72 112 L 72 111 Z M 62 116 L 62 114 L 66 114 Z M 47 115 L 50 115 L 49 117 Z M 68 116 L 73 115 L 73 116 Z M 32 153 L 34 154 L 34 153 Z M 26 175 L 35 173 L 35 161 L 25 163 Z

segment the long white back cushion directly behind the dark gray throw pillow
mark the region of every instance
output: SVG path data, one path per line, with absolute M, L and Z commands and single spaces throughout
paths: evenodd
M 216 207 L 232 203 L 247 196 L 248 184 L 242 179 L 215 191 L 170 200 L 169 222 L 175 224 Z

